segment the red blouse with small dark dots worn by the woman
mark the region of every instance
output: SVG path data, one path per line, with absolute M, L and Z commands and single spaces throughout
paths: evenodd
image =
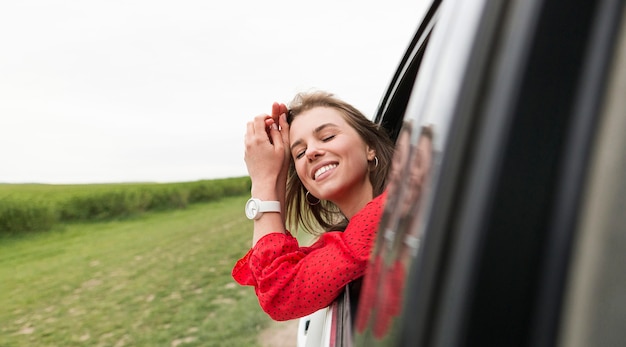
M 254 286 L 274 320 L 304 317 L 330 305 L 349 282 L 363 276 L 383 212 L 386 193 L 352 217 L 343 232 L 300 247 L 287 231 L 263 236 L 233 268 L 241 285 Z

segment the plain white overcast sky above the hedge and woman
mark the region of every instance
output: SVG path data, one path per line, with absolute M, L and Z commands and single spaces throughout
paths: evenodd
M 0 2 L 0 182 L 247 175 L 245 124 L 321 89 L 370 118 L 426 1 Z

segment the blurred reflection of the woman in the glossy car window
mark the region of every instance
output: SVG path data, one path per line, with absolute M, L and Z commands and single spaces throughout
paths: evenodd
M 361 292 L 357 338 L 370 338 L 358 336 L 365 332 L 377 340 L 394 340 L 407 270 L 419 248 L 422 198 L 433 163 L 433 128 L 413 128 L 413 121 L 405 121 L 396 142 L 388 199 Z

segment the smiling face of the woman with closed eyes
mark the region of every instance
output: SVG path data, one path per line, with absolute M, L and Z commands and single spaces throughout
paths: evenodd
M 315 107 L 300 113 L 289 140 L 298 177 L 315 197 L 338 204 L 346 194 L 368 192 L 371 199 L 368 161 L 375 152 L 338 110 Z

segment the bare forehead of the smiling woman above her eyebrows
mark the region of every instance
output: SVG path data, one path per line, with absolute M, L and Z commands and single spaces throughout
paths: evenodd
M 332 107 L 314 107 L 298 114 L 291 122 L 289 136 L 293 140 L 309 135 L 319 126 L 334 124 L 340 128 L 349 128 L 341 112 Z

